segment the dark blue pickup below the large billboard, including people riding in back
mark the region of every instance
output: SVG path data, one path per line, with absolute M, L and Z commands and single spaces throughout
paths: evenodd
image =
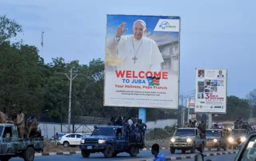
M 79 146 L 81 154 L 87 158 L 91 153 L 101 152 L 110 158 L 126 152 L 136 157 L 140 153 L 139 149 L 145 147 L 146 128 L 141 119 L 134 124 L 131 117 L 111 117 L 107 126 L 94 126 L 90 137 L 82 138 Z

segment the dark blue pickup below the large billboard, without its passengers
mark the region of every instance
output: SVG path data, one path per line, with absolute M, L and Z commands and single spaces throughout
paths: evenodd
M 101 152 L 104 157 L 116 157 L 118 153 L 129 153 L 136 157 L 144 143 L 135 141 L 135 136 L 129 134 L 124 126 L 98 126 L 90 137 L 83 138 L 79 148 L 84 158 L 91 153 Z M 122 159 L 121 159 L 122 160 Z

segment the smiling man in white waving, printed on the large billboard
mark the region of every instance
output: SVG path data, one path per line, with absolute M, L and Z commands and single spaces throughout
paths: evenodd
M 123 35 L 128 30 L 124 29 L 125 25 L 125 22 L 120 24 L 116 35 L 107 43 L 108 60 L 120 61 L 119 70 L 160 71 L 164 60 L 156 42 L 144 36 L 146 23 L 136 20 L 132 27 L 133 35 Z

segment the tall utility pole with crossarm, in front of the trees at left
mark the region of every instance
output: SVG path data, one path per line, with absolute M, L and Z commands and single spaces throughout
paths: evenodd
M 73 79 L 76 78 L 76 76 L 81 75 L 81 74 L 74 74 L 72 73 L 73 69 L 70 69 L 70 73 L 61 73 L 61 74 L 65 74 L 68 79 L 69 79 L 69 102 L 68 102 L 68 134 L 70 133 L 70 119 L 71 119 L 71 100 L 72 100 L 72 81 Z M 69 76 L 68 76 L 69 75 Z M 74 77 L 73 77 L 74 75 Z

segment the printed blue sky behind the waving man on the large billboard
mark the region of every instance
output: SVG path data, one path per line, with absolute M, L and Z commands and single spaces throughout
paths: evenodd
M 179 32 L 154 31 L 159 19 L 179 20 L 179 17 L 108 15 L 107 31 L 106 31 L 107 42 L 114 37 L 118 26 L 120 26 L 122 22 L 126 22 L 126 25 L 124 28 L 128 29 L 127 31 L 125 31 L 123 35 L 133 35 L 132 26 L 136 20 L 143 20 L 146 23 L 147 32 L 145 33 L 145 36 L 156 41 L 157 45 L 163 45 L 166 43 L 170 43 L 172 41 L 178 41 Z

